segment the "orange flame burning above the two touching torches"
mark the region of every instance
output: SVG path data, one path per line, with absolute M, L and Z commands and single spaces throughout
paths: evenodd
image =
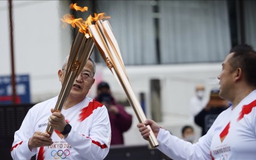
M 80 10 L 81 12 L 85 12 L 88 10 L 88 7 L 80 7 L 80 6 L 77 6 L 75 3 L 70 5 L 70 9 L 75 9 L 75 10 Z M 72 25 L 73 28 L 77 26 L 79 28 L 79 31 L 81 33 L 84 33 L 86 38 L 89 38 L 91 37 L 91 33 L 89 33 L 88 26 L 92 25 L 92 22 L 96 22 L 97 20 L 101 20 L 103 18 L 110 18 L 110 16 L 105 16 L 104 13 L 100 13 L 100 14 L 94 14 L 94 17 L 89 15 L 89 17 L 86 18 L 86 20 L 83 20 L 83 18 L 75 18 L 73 15 L 66 14 L 62 18 L 60 18 L 60 20 L 62 20 L 62 22 L 65 22 L 64 25 L 62 25 L 63 27 L 67 26 L 66 23 Z

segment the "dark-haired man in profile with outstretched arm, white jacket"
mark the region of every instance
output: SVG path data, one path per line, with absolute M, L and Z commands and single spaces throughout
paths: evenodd
M 242 44 L 230 50 L 222 63 L 220 97 L 232 105 L 213 122 L 199 142 L 190 144 L 170 135 L 151 119 L 137 127 L 144 139 L 151 126 L 164 154 L 172 159 L 256 158 L 256 52 Z

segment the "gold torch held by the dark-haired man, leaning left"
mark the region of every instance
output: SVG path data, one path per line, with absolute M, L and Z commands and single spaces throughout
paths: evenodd
M 136 98 L 130 81 L 125 71 L 120 49 L 118 47 L 112 28 L 107 20 L 97 20 L 95 25 L 89 25 L 89 31 L 92 34 L 94 42 L 101 53 L 102 58 L 109 67 L 110 71 L 114 74 L 119 84 L 125 90 L 129 102 L 133 106 L 133 110 L 139 122 L 146 121 L 146 116 L 141 108 L 141 105 Z M 151 131 L 149 135 L 149 143 L 152 148 L 158 146 L 157 139 L 150 126 L 147 126 Z

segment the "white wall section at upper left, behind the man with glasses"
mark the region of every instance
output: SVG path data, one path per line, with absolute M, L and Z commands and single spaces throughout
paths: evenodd
M 32 102 L 58 94 L 57 71 L 72 44 L 69 28 L 60 18 L 69 12 L 68 1 L 12 1 L 15 73 L 30 75 Z M 0 75 L 10 75 L 8 1 L 0 1 Z

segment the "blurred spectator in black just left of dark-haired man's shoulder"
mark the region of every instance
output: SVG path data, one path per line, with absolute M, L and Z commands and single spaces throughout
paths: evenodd
M 211 90 L 209 102 L 194 118 L 195 123 L 202 128 L 202 136 L 207 133 L 218 115 L 229 106 L 228 100 L 219 97 L 219 92 L 219 89 Z

